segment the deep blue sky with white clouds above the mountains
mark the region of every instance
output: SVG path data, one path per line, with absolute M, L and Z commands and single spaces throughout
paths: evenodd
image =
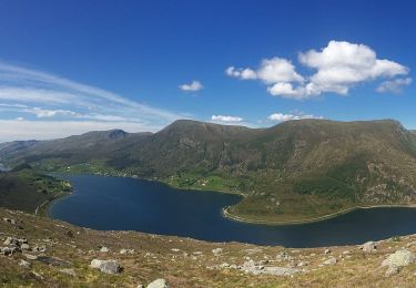
M 395 119 L 416 128 L 416 2 L 0 0 L 0 142 Z

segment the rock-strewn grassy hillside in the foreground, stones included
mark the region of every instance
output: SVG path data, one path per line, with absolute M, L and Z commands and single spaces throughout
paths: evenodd
M 416 235 L 287 249 L 98 232 L 0 209 L 1 286 L 415 287 Z

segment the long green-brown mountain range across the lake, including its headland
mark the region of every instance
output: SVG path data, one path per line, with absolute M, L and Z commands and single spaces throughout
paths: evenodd
M 416 135 L 393 120 L 300 120 L 270 128 L 181 120 L 154 134 L 92 132 L 21 147 L 1 148 L 0 162 L 236 192 L 246 197 L 227 214 L 246 220 L 416 202 Z

